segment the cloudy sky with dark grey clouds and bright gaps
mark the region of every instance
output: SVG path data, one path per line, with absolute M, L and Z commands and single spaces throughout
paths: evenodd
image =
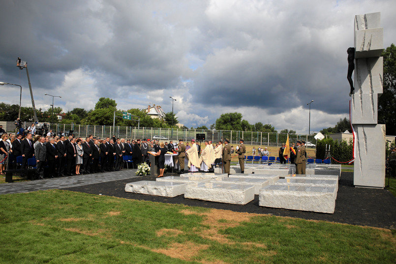
M 348 47 L 356 14 L 381 12 L 384 47 L 395 43 L 392 0 L 2 1 L 0 81 L 23 87 L 37 108 L 60 95 L 64 111 L 99 97 L 118 108 L 160 105 L 188 127 L 222 113 L 298 133 L 349 116 Z M 1 86 L 18 104 L 19 88 Z M 3 92 L 7 90 L 6 96 Z

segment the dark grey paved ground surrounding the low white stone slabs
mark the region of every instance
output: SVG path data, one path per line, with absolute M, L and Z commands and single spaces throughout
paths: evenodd
M 168 175 L 169 176 L 169 175 Z M 325 220 L 352 225 L 396 229 L 396 198 L 388 190 L 355 188 L 353 186 L 353 173 L 342 173 L 339 185 L 335 212 L 333 214 L 295 211 L 261 207 L 258 205 L 258 195 L 247 205 L 231 205 L 215 202 L 184 199 L 183 195 L 174 198 L 159 197 L 144 194 L 127 193 L 125 184 L 138 180 L 155 180 L 154 177 L 133 177 L 114 181 L 107 181 L 64 190 L 102 194 L 126 199 L 145 200 L 169 204 L 183 204 L 202 206 L 217 209 L 249 212 L 259 214 L 273 214 L 277 216 L 298 217 L 313 220 Z

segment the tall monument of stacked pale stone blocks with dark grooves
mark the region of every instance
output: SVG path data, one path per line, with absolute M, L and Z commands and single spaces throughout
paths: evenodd
M 377 124 L 383 89 L 381 13 L 355 16 L 355 92 L 351 123 L 355 130 L 354 185 L 384 188 L 385 125 Z

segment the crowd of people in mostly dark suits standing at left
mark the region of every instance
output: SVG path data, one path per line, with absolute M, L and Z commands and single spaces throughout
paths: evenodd
M 167 151 L 174 147 L 167 145 Z M 163 145 L 163 143 L 162 143 Z M 33 178 L 61 177 L 80 174 L 94 174 L 105 171 L 121 171 L 124 160 L 132 161 L 132 168 L 139 163 L 149 163 L 149 151 L 160 151 L 160 143 L 153 140 L 130 140 L 107 137 L 98 139 L 89 135 L 86 138 L 74 135 L 32 137 L 31 133 L 1 135 L 0 141 L 0 174 L 4 174 L 5 164 L 8 169 L 19 169 L 21 176 L 28 175 L 28 160 L 35 160 Z M 18 164 L 17 157 L 22 157 Z

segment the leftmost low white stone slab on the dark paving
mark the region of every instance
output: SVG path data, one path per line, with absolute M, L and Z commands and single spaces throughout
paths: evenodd
M 175 197 L 184 193 L 186 183 L 141 180 L 125 185 L 125 192 Z

